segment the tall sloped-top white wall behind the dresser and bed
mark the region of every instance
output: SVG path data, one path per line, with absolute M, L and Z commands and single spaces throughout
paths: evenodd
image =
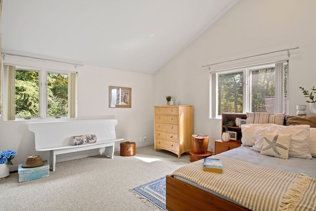
M 289 114 L 307 104 L 299 86 L 316 85 L 316 1 L 242 0 L 155 76 L 155 104 L 165 95 L 194 106 L 194 133 L 221 136 L 220 120 L 209 119 L 209 72 L 202 65 L 299 46 L 291 52 Z M 308 111 L 308 115 L 311 113 Z

